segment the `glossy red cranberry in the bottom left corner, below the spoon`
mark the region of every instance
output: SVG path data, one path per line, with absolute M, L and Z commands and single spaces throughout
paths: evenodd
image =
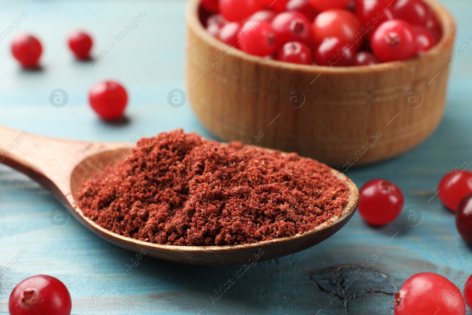
M 64 283 L 42 274 L 18 283 L 8 301 L 10 315 L 70 315 L 71 309 Z

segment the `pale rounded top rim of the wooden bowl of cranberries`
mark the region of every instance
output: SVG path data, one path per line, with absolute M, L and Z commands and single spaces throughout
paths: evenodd
M 254 56 L 252 54 L 246 53 L 240 49 L 229 49 L 223 51 L 226 55 L 233 56 L 235 58 L 242 59 L 251 63 L 259 63 L 263 67 L 270 67 L 272 69 L 280 70 L 296 70 L 303 71 L 308 73 L 332 73 L 332 74 L 356 74 L 356 73 L 372 73 L 372 72 L 385 72 L 389 69 L 395 69 L 399 67 L 412 67 L 417 64 L 421 59 L 434 59 L 438 57 L 443 51 L 446 51 L 448 47 L 452 45 L 451 42 L 454 42 L 455 32 L 456 32 L 456 22 L 452 17 L 452 14 L 442 5 L 435 0 L 424 0 L 429 7 L 433 10 L 436 15 L 438 22 L 441 26 L 442 36 L 436 45 L 431 48 L 429 51 L 426 51 L 416 57 L 406 59 L 406 60 L 396 60 L 389 62 L 382 62 L 377 65 L 367 65 L 367 66 L 342 66 L 342 67 L 329 67 L 329 66 L 319 66 L 319 65 L 301 65 L 290 62 L 283 62 L 278 60 L 269 60 L 263 57 Z M 187 9 L 185 13 L 185 20 L 187 27 L 192 29 L 197 36 L 199 36 L 204 42 L 213 46 L 215 50 L 223 50 L 228 48 L 228 44 L 219 41 L 216 37 L 212 36 L 206 31 L 200 22 L 198 9 L 200 1 L 199 0 L 190 0 L 187 4 Z M 187 34 L 188 36 L 188 34 Z M 187 47 L 187 49 L 189 49 Z M 445 60 L 447 61 L 447 60 Z

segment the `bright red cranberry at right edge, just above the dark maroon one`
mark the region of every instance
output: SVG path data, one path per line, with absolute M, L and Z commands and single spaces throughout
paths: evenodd
M 472 173 L 468 170 L 453 170 L 439 182 L 438 196 L 451 211 L 457 210 L 461 200 L 472 193 Z

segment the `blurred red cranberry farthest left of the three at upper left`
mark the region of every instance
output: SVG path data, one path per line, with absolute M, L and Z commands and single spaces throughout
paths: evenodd
M 23 67 L 34 68 L 38 66 L 42 46 L 36 37 L 20 34 L 13 40 L 11 52 Z

